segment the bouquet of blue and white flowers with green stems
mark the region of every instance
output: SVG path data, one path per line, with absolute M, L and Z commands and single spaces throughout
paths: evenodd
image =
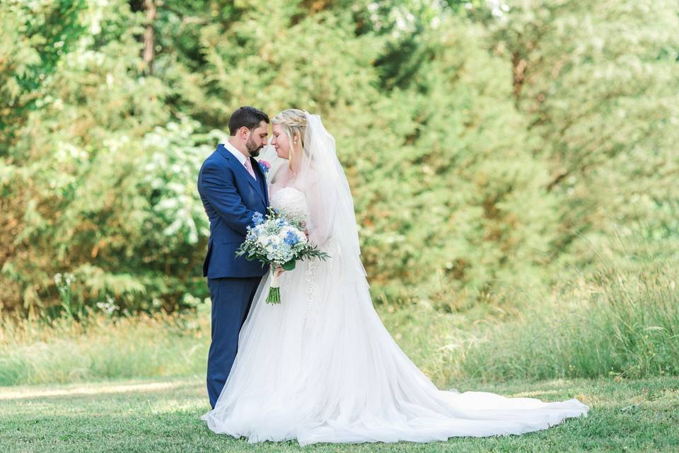
M 274 268 L 293 270 L 296 260 L 330 258 L 308 241 L 303 222 L 271 208 L 266 218 L 260 212 L 255 212 L 253 226 L 248 226 L 245 242 L 236 251 L 236 256 L 243 255 L 245 259 L 260 260 L 262 265 L 271 265 L 272 280 L 267 304 L 281 303 L 281 290 Z

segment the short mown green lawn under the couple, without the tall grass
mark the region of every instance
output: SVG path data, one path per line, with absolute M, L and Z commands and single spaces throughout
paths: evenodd
M 522 436 L 415 444 L 250 445 L 214 435 L 202 377 L 0 387 L 0 452 L 660 452 L 679 451 L 679 378 L 473 384 L 460 391 L 560 400 L 588 418 Z

